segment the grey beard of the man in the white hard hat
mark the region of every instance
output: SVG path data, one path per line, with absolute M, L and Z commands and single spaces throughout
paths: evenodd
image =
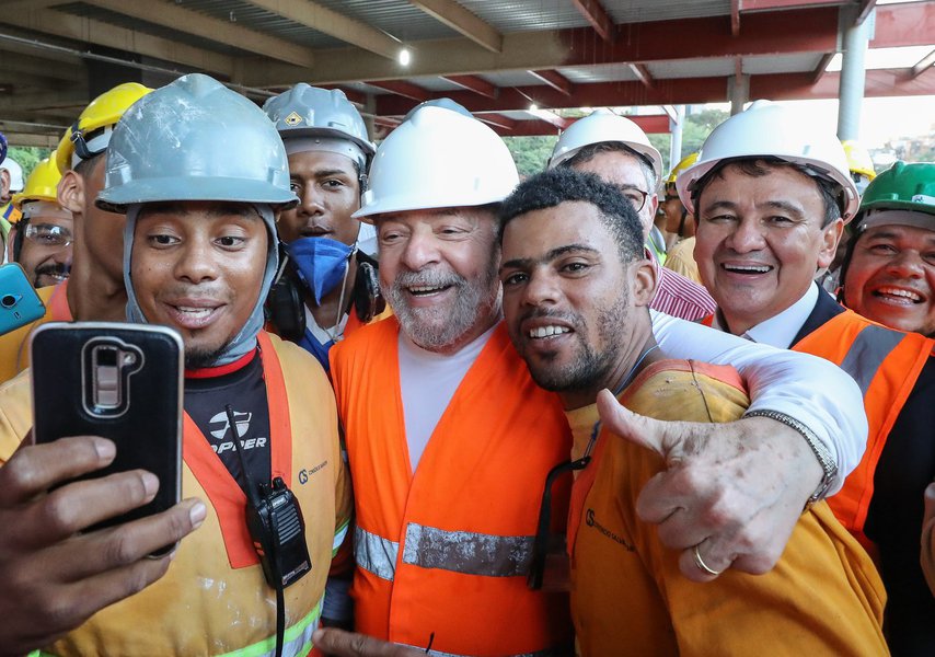
M 496 254 L 494 255 L 496 257 Z M 419 347 L 438 351 L 458 343 L 477 320 L 496 306 L 499 285 L 494 261 L 478 278 L 468 280 L 453 269 L 403 272 L 390 286 L 381 286 L 403 332 Z M 408 304 L 406 288 L 451 286 L 454 302 L 430 308 Z

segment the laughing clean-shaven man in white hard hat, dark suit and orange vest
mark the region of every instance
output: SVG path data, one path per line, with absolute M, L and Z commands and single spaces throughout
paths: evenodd
M 917 565 L 925 482 L 909 491 L 898 471 L 924 459 L 930 480 L 935 474 L 935 454 L 924 447 L 931 422 L 917 422 L 932 416 L 931 385 L 923 382 L 933 380 L 935 341 L 875 324 L 813 281 L 859 203 L 843 147 L 832 131 L 804 124 L 792 110 L 758 101 L 711 134 L 677 185 L 696 217 L 695 258 L 718 302 L 707 322 L 827 358 L 861 385 L 867 449 L 829 504 L 879 556 L 893 652 L 933 654 L 935 600 Z

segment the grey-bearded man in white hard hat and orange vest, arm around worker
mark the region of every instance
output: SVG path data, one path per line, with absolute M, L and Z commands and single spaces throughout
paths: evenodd
M 357 508 L 356 627 L 434 654 L 568 649 L 566 597 L 527 586 L 542 487 L 567 460 L 570 433 L 501 322 L 497 210 L 518 177 L 503 140 L 459 112 L 423 107 L 391 132 L 356 216 L 377 226 L 395 316 L 331 351 Z M 709 426 L 619 410 L 609 426 L 640 433 L 681 463 L 644 491 L 646 519 L 689 578 L 707 581 L 731 565 L 767 570 L 822 481 L 808 441 L 827 445 L 843 471 L 856 462 L 865 426 L 849 403 L 859 407 L 859 393 L 818 359 L 658 313 L 654 330 L 670 354 L 738 367 L 754 391 L 752 414 L 773 418 L 720 425 L 708 441 Z M 804 391 L 803 372 L 834 378 L 840 394 Z M 690 441 L 705 448 L 685 450 Z M 763 487 L 740 492 L 737 470 Z M 565 517 L 567 495 L 559 480 L 553 518 Z M 693 550 L 702 542 L 704 570 Z M 327 633 L 315 641 L 338 647 Z

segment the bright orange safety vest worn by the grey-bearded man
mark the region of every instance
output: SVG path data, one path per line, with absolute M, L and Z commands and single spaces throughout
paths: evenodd
M 550 654 L 569 637 L 567 596 L 531 591 L 526 576 L 545 477 L 570 449 L 558 399 L 497 326 L 413 473 L 399 334 L 390 318 L 331 351 L 354 481 L 356 629 L 445 655 Z M 558 531 L 567 495 L 556 488 Z

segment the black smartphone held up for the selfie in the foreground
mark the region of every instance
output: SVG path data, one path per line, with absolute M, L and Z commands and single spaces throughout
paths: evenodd
M 178 333 L 165 326 L 50 322 L 33 332 L 35 442 L 102 436 L 116 443 L 116 458 L 79 479 L 138 468 L 159 477 L 152 502 L 89 529 L 158 514 L 180 502 L 183 355 Z

